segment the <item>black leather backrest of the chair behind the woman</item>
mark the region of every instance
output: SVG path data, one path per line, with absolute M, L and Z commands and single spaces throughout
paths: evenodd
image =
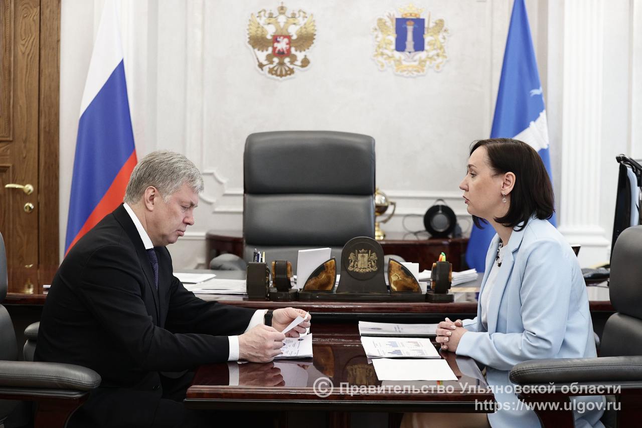
M 642 355 L 642 226 L 628 227 L 618 236 L 609 297 L 616 313 L 604 326 L 600 357 Z

